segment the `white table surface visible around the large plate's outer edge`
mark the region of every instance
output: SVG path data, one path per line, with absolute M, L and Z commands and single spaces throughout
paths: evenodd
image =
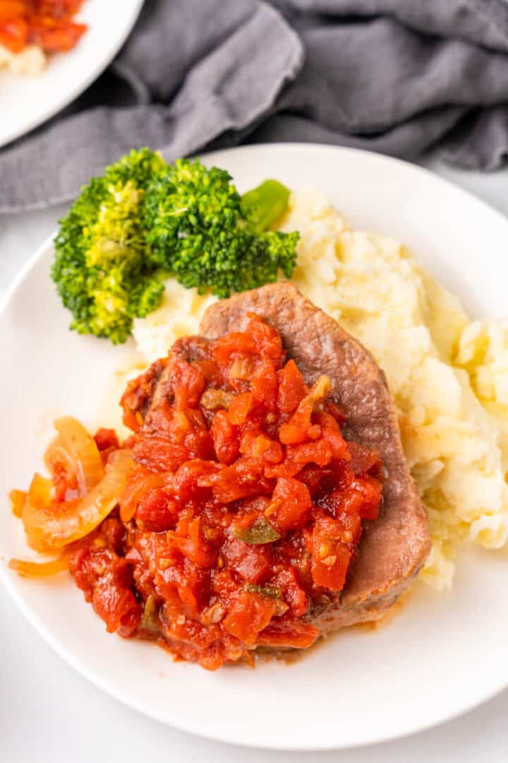
M 508 214 L 508 169 L 480 175 L 436 162 L 427 164 Z M 0 217 L 0 299 L 24 262 L 54 230 L 63 209 Z M 508 760 L 508 691 L 430 731 L 345 752 L 264 752 L 209 742 L 149 720 L 89 684 L 37 636 L 3 588 L 0 611 L 2 763 Z

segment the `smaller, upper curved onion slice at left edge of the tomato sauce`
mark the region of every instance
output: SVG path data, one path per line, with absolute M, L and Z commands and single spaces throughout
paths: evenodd
M 104 477 L 104 466 L 97 443 L 85 427 L 72 416 L 57 419 L 55 429 L 60 439 L 53 440 L 50 449 L 53 446 L 54 452 L 56 449 L 60 453 L 62 449 L 65 451 L 67 463 L 72 464 L 72 473 L 78 480 L 79 494 L 83 497 Z M 62 457 L 65 456 L 62 454 Z M 47 460 L 49 457 L 50 454 L 46 453 Z

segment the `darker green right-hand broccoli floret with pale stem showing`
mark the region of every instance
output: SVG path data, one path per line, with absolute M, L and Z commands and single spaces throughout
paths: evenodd
M 143 199 L 149 258 L 184 286 L 219 297 L 276 281 L 279 270 L 289 278 L 298 233 L 266 230 L 288 198 L 276 181 L 241 197 L 224 169 L 178 159 Z

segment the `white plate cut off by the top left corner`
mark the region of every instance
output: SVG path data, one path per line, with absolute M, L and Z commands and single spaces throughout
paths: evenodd
M 88 30 L 74 50 L 50 56 L 39 76 L 0 69 L 0 146 L 53 117 L 88 88 L 122 47 L 142 4 L 86 0 L 76 19 Z

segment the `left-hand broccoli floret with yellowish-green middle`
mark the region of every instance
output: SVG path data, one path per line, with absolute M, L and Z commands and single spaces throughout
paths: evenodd
M 79 333 L 125 342 L 133 317 L 161 301 L 164 285 L 146 258 L 139 207 L 167 165 L 148 149 L 132 151 L 82 189 L 55 240 L 52 277 Z

